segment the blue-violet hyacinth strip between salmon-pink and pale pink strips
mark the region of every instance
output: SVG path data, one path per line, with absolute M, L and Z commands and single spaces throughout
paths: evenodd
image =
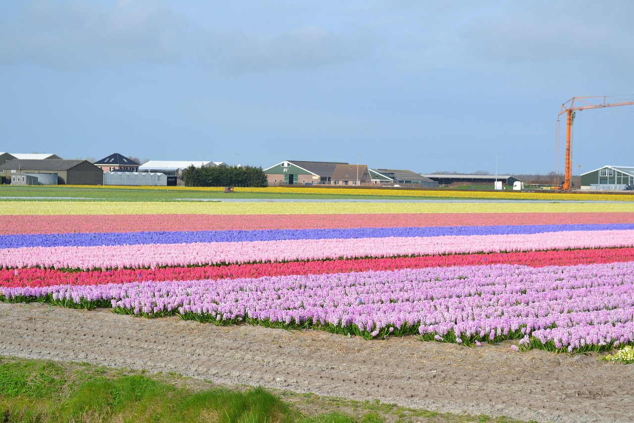
M 500 225 L 451 227 L 380 227 L 353 229 L 268 229 L 261 231 L 157 231 L 0 236 L 0 248 L 114 246 L 181 243 L 281 241 L 292 239 L 413 238 L 434 236 L 519 235 L 564 231 L 631 230 L 634 224 Z

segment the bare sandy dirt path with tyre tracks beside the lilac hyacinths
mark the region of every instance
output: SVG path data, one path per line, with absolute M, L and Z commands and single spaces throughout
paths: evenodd
M 509 345 L 366 341 L 108 310 L 0 304 L 0 355 L 176 372 L 441 412 L 539 422 L 634 421 L 634 365 Z

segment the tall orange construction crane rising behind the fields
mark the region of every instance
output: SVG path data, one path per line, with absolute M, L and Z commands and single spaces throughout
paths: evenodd
M 619 97 L 634 97 L 634 95 L 626 95 Z M 557 115 L 557 145 L 555 147 L 555 168 L 557 168 L 557 163 L 559 162 L 559 133 L 560 133 L 560 122 L 559 116 L 566 113 L 566 175 L 564 176 L 564 185 L 562 189 L 569 190 L 571 188 L 571 182 L 573 178 L 573 170 L 572 170 L 572 157 L 571 157 L 571 144 L 573 142 L 573 121 L 574 114 L 576 111 L 582 111 L 585 109 L 598 109 L 600 107 L 614 107 L 618 105 L 630 105 L 634 104 L 634 101 L 626 101 L 623 98 L 613 97 L 613 96 L 595 96 L 595 97 L 573 97 L 564 104 L 561 105 L 561 109 L 559 114 Z M 601 100 L 597 100 L 601 99 Z M 612 103 L 610 102 L 612 101 Z M 581 105 L 575 105 L 577 104 Z M 557 170 L 555 169 L 555 178 L 557 177 Z M 555 185 L 557 185 L 557 180 L 555 180 Z

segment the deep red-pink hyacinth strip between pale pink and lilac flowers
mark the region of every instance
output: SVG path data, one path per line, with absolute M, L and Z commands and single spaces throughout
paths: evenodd
M 426 255 L 418 257 L 356 258 L 347 260 L 298 261 L 287 263 L 205 265 L 198 267 L 155 267 L 153 269 L 112 269 L 65 272 L 27 267 L 0 269 L 0 286 L 104 285 L 139 281 L 193 281 L 202 279 L 261 278 L 301 274 L 388 271 L 467 265 L 522 264 L 548 265 L 633 262 L 634 248 L 592 250 L 549 250 L 535 252 Z

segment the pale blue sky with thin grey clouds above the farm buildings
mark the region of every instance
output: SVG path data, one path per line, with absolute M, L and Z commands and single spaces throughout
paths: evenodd
M 630 0 L 3 0 L 0 151 L 563 171 L 562 104 L 634 100 L 633 16 Z M 634 166 L 633 119 L 578 112 L 573 175 Z

